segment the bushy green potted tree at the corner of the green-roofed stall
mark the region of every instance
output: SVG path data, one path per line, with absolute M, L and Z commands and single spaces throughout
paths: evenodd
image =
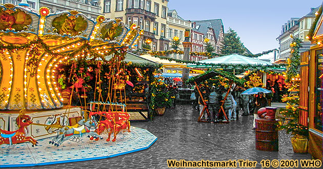
M 171 107 L 174 98 L 161 78 L 157 78 L 151 83 L 150 107 L 156 114 L 164 115 L 166 108 Z

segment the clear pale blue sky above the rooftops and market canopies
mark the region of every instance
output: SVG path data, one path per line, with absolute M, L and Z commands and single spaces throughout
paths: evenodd
M 186 20 L 222 19 L 225 33 L 231 27 L 253 54 L 278 49 L 276 38 L 291 17 L 302 17 L 322 0 L 169 0 Z

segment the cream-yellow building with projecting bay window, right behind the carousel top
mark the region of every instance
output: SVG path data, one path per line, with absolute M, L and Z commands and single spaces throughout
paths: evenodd
M 126 25 L 136 24 L 144 30 L 136 48 L 146 39 L 152 40 L 152 50 L 169 48 L 166 38 L 168 0 L 101 0 L 106 18 L 122 19 Z

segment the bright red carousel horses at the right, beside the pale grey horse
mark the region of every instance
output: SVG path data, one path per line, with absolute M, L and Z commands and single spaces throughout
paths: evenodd
M 125 112 L 104 112 L 106 114 L 105 120 L 99 121 L 97 134 L 101 135 L 105 130 L 109 131 L 107 141 L 110 141 L 111 134 L 113 133 L 114 142 L 117 134 L 122 132 L 130 132 L 129 114 Z

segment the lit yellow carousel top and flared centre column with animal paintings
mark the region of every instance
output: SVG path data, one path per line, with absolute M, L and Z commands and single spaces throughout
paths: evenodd
M 50 13 L 46 7 L 5 4 L 0 17 L 0 110 L 63 107 L 55 73 L 59 64 L 111 54 L 123 61 L 143 34 L 120 19 L 92 19 L 74 10 Z

